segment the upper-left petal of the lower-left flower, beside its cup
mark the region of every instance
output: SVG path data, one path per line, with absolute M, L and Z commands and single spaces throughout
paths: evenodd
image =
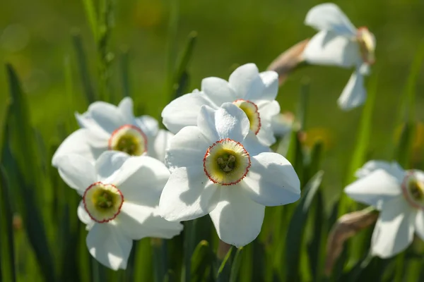
M 69 187 L 80 195 L 91 184 L 97 182 L 94 164 L 78 154 L 69 154 L 57 159 L 59 175 Z

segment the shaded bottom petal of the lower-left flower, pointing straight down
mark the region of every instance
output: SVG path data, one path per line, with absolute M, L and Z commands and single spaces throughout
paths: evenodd
M 86 238 L 88 251 L 110 269 L 126 269 L 132 240 L 110 223 L 96 223 Z

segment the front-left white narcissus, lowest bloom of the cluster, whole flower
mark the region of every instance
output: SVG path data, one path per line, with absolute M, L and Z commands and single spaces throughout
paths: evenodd
M 78 217 L 87 224 L 90 254 L 110 269 L 125 269 L 132 240 L 172 238 L 182 224 L 158 214 L 170 172 L 147 156 L 107 151 L 95 163 L 78 154 L 57 159 L 61 178 L 83 197 Z

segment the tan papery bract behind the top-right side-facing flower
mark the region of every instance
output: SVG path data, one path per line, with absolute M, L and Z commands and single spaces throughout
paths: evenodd
M 278 73 L 279 85 L 283 84 L 287 76 L 294 71 L 295 68 L 302 66 L 302 63 L 305 62 L 302 54 L 309 40 L 310 39 L 305 39 L 293 45 L 293 47 L 281 53 L 281 55 L 269 65 L 267 70 L 276 71 L 276 73 Z

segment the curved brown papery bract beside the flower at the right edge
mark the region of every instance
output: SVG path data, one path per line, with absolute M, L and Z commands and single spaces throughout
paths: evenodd
M 343 243 L 359 231 L 367 228 L 377 221 L 378 212 L 373 208 L 363 209 L 359 212 L 344 214 L 331 228 L 327 240 L 325 274 L 329 276 L 334 263 L 343 250 Z

